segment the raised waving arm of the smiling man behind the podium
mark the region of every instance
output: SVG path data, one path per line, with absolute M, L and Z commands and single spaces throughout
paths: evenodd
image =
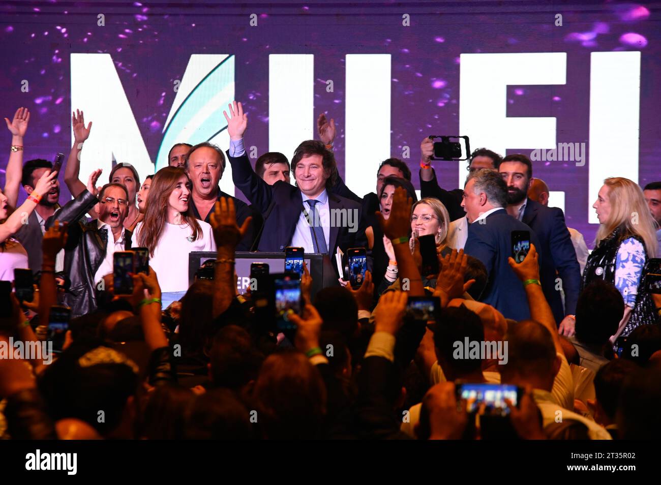
M 248 114 L 243 112 L 243 106 L 236 101 L 229 105 L 229 112 L 231 116 L 223 111 L 229 133 L 227 158 L 232 166 L 232 180 L 251 204 L 264 213 L 273 199 L 273 188 L 254 172 L 246 155 L 243 133 L 248 127 Z

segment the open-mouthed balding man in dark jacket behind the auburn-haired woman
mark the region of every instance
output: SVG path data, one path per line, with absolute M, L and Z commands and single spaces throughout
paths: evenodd
M 208 223 L 217 200 L 220 200 L 221 197 L 233 199 L 234 207 L 237 209 L 237 225 L 239 227 L 243 225 L 243 221 L 247 217 L 253 217 L 253 223 L 248 228 L 243 240 L 239 242 L 237 251 L 253 250 L 256 233 L 262 225 L 262 216 L 243 200 L 225 194 L 220 190 L 218 182 L 220 182 L 225 170 L 223 151 L 212 143 L 198 143 L 188 151 L 185 168 L 193 184 L 190 205 L 195 217 Z

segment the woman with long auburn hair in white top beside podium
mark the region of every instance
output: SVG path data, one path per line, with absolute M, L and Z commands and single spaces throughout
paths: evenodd
M 163 293 L 188 289 L 189 252 L 215 251 L 212 227 L 190 208 L 191 187 L 183 168 L 161 168 L 151 180 L 145 219 L 136 227 L 134 245 L 149 249 Z

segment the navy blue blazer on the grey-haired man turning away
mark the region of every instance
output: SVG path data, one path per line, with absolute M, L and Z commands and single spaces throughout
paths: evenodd
M 537 235 L 505 209 L 490 213 L 484 223 L 480 222 L 475 221 L 468 226 L 468 239 L 463 248 L 466 254 L 479 259 L 486 266 L 488 281 L 480 301 L 500 311 L 505 318 L 530 318 L 524 284 L 514 274 L 507 260 L 512 256 L 512 231 L 530 231 L 535 248 L 539 248 Z M 542 255 L 539 254 L 540 264 L 541 260 Z

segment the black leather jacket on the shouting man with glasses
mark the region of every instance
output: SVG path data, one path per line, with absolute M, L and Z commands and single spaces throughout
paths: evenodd
M 71 307 L 71 318 L 80 317 L 97 309 L 97 288 L 94 276 L 106 255 L 107 241 L 98 231 L 97 220 L 86 222 L 81 218 L 98 199 L 84 190 L 77 198 L 67 202 L 46 221 L 46 228 L 56 220 L 69 223 L 69 237 L 65 246 L 64 271 L 71 287 L 61 303 Z M 131 232 L 124 232 L 125 248 L 131 248 Z

